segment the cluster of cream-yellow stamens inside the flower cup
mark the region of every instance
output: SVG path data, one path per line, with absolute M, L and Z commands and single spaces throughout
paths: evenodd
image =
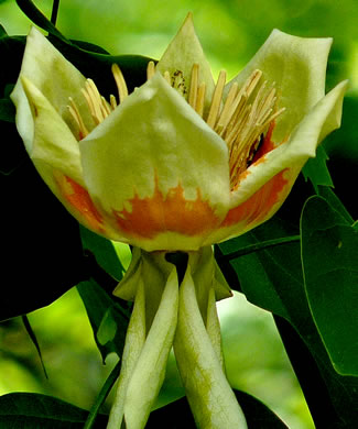
M 118 88 L 118 97 L 123 102 L 128 97 L 128 88 L 123 75 L 117 64 L 112 65 L 112 74 Z M 155 74 L 153 62 L 148 64 L 147 78 Z M 221 70 L 214 89 L 208 109 L 205 109 L 206 84 L 199 81 L 199 65 L 194 64 L 189 88 L 186 87 L 183 73 L 165 72 L 164 79 L 175 88 L 207 124 L 226 142 L 229 151 L 230 183 L 234 188 L 239 176 L 251 163 L 258 151 L 262 135 L 269 125 L 285 110 L 276 108 L 276 89 L 274 84 L 260 82 L 261 70 L 254 70 L 241 88 L 234 82 L 224 101 L 226 72 Z M 87 79 L 83 95 L 96 124 L 102 122 L 117 107 L 117 99 L 110 96 L 109 102 L 99 94 L 95 82 Z M 79 110 L 69 98 L 69 112 L 77 123 L 79 139 L 88 134 Z

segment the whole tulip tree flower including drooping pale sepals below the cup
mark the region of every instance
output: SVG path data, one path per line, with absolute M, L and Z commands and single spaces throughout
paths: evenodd
M 109 428 L 143 428 L 174 352 L 196 424 L 246 428 L 225 377 L 216 300 L 230 290 L 211 244 L 271 218 L 339 127 L 346 82 L 325 95 L 330 38 L 274 30 L 217 82 L 191 14 L 132 94 L 112 67 L 104 98 L 35 29 L 12 92 L 36 169 L 85 227 L 134 246 L 115 294 L 134 300 Z M 186 252 L 178 280 L 171 252 Z

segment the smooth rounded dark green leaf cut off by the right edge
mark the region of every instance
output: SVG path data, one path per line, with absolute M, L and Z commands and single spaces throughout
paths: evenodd
M 305 288 L 335 370 L 358 376 L 358 231 L 322 197 L 301 221 Z

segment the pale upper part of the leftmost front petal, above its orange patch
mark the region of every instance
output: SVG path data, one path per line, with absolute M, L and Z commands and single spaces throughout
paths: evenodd
M 26 144 L 30 157 L 35 164 L 40 162 L 48 165 L 52 168 L 50 173 L 59 170 L 83 186 L 79 148 L 75 136 L 39 88 L 24 76 L 21 81 L 31 109 L 29 123 L 32 124 L 32 134 L 24 139 L 25 142 L 31 141 L 31 144 Z M 20 114 L 18 111 L 18 117 Z M 29 127 L 28 132 L 30 131 Z M 52 175 L 44 179 L 52 180 Z

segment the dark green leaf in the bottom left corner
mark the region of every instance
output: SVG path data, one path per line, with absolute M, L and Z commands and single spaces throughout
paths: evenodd
M 13 393 L 0 397 L 0 427 L 3 429 L 80 429 L 88 411 L 61 399 L 30 393 Z M 99 416 L 94 428 L 105 426 Z

